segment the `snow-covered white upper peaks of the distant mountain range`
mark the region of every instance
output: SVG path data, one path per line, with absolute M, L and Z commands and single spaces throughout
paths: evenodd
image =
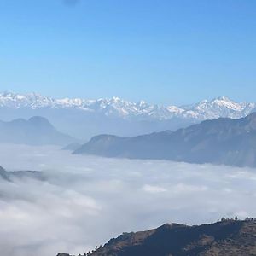
M 118 97 L 110 99 L 86 100 L 81 98 L 54 99 L 35 93 L 0 94 L 0 108 L 73 108 L 90 113 L 101 113 L 108 117 L 122 119 L 216 119 L 219 117 L 241 118 L 256 109 L 256 103 L 237 103 L 227 97 L 218 97 L 212 101 L 201 101 L 188 106 L 159 106 L 147 102 L 128 102 Z

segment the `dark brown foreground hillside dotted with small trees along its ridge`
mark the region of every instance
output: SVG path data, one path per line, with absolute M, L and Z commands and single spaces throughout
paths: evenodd
M 124 233 L 87 255 L 252 256 L 256 255 L 255 234 L 254 220 L 226 220 L 200 226 L 164 224 L 155 230 Z

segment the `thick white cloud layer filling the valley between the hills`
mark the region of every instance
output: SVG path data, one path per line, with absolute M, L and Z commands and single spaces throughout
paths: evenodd
M 3 255 L 85 253 L 124 231 L 256 216 L 256 172 L 249 168 L 104 159 L 22 145 L 1 145 L 0 165 L 43 171 L 48 179 L 0 181 Z

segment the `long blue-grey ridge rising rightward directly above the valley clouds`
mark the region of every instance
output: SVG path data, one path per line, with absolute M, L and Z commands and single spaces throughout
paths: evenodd
M 256 167 L 256 113 L 242 119 L 207 120 L 175 132 L 101 135 L 74 154 Z

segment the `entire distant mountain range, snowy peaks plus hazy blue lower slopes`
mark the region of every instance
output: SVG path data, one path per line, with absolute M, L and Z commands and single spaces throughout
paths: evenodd
M 255 109 L 255 103 L 238 103 L 227 97 L 185 106 L 161 106 L 144 101 L 129 102 L 119 97 L 89 100 L 54 99 L 34 93 L 0 94 L 1 119 L 43 116 L 58 130 L 81 139 L 102 133 L 136 136 L 154 131 L 175 131 L 206 119 L 242 118 Z

